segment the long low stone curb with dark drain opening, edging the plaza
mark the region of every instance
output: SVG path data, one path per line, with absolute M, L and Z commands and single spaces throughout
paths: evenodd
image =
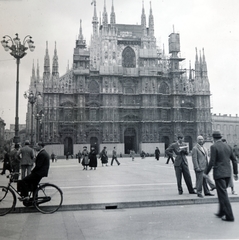
M 239 202 L 239 197 L 229 197 L 230 202 Z M 144 207 L 167 207 L 177 205 L 213 204 L 218 203 L 218 198 L 204 199 L 177 199 L 158 201 L 137 201 L 137 202 L 115 202 L 115 203 L 92 203 L 92 204 L 69 204 L 62 205 L 58 211 L 82 211 L 82 210 L 112 210 L 126 208 Z M 32 213 L 38 212 L 34 207 L 17 207 L 11 213 Z

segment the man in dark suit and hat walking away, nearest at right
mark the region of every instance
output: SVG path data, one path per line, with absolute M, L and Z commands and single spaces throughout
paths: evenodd
M 219 211 L 215 215 L 224 221 L 234 221 L 231 204 L 227 194 L 227 187 L 231 177 L 232 161 L 234 179 L 238 180 L 237 160 L 232 152 L 232 148 L 223 143 L 220 131 L 214 131 L 212 134 L 214 144 L 210 148 L 211 158 L 206 174 L 213 168 L 213 178 L 216 183 Z

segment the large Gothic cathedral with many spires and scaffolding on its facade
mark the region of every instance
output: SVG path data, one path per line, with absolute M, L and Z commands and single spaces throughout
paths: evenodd
M 72 68 L 59 76 L 56 46 L 50 65 L 47 45 L 42 79 L 33 65 L 29 91 L 37 96 L 28 106 L 28 136 L 35 129 L 34 141 L 42 140 L 57 155 L 76 154 L 83 146 L 98 152 L 116 147 L 118 154 L 159 147 L 163 153 L 178 134 L 189 150 L 199 134 L 210 141 L 204 50 L 196 49 L 195 68 L 183 69 L 178 33 L 168 37 L 168 54 L 156 46 L 151 4 L 148 18 L 142 6 L 138 25 L 117 23 L 113 3 L 109 16 L 104 6 L 99 22 L 93 4 L 91 41 L 87 47 L 80 23 Z

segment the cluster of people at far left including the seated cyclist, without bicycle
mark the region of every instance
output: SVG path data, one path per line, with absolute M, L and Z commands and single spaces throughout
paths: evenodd
M 41 179 L 48 175 L 50 156 L 44 149 L 44 144 L 39 142 L 35 150 L 37 154 L 30 147 L 29 140 L 26 140 L 22 148 L 19 144 L 15 144 L 12 150 L 6 149 L 4 153 L 1 175 L 5 174 L 6 170 L 14 173 L 12 179 L 17 182 L 17 190 L 21 194 L 19 200 L 21 201 L 29 200 L 29 191 L 34 191 Z M 21 179 L 19 180 L 20 171 Z

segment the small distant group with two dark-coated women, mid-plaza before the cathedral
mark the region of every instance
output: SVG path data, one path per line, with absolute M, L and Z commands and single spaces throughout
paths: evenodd
M 101 159 L 102 167 L 108 166 L 108 154 L 107 154 L 107 148 L 104 147 L 103 150 L 99 154 L 99 158 Z M 120 165 L 120 162 L 117 158 L 117 152 L 116 148 L 114 147 L 112 151 L 112 160 L 111 160 L 111 166 L 113 166 L 114 161 L 118 165 Z M 87 170 L 88 167 L 90 167 L 90 170 L 96 170 L 98 162 L 97 162 L 97 151 L 94 146 L 91 147 L 90 151 L 87 150 L 87 146 L 83 147 L 82 152 L 78 152 L 78 162 L 82 164 L 83 170 Z

